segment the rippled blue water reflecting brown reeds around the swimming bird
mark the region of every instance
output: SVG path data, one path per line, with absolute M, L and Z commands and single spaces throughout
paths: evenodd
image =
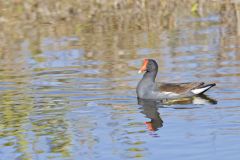
M 214 11 L 174 22 L 81 36 L 28 26 L 1 53 L 0 159 L 239 159 L 238 28 Z M 158 81 L 217 86 L 184 103 L 138 101 L 143 58 L 158 61 Z

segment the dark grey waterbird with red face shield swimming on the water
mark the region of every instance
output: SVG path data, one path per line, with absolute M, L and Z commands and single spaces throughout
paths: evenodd
M 187 83 L 159 83 L 156 82 L 158 73 L 158 64 L 154 59 L 144 59 L 139 73 L 144 73 L 139 81 L 136 92 L 140 99 L 179 99 L 201 95 L 213 86 L 215 83 L 205 84 L 204 82 Z

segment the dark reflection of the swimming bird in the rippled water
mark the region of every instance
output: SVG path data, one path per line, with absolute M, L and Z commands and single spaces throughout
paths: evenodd
M 209 98 L 206 95 L 200 95 L 190 98 L 182 98 L 182 99 L 176 99 L 176 100 L 144 100 L 138 98 L 138 104 L 141 105 L 139 108 L 142 114 L 144 114 L 147 118 L 150 119 L 150 121 L 145 122 L 147 129 L 149 131 L 157 131 L 159 128 L 163 126 L 163 120 L 160 116 L 160 113 L 158 111 L 159 108 L 164 108 L 165 105 L 175 105 L 175 104 L 217 104 L 217 101 Z M 172 107 L 174 109 L 193 109 L 195 107 Z

